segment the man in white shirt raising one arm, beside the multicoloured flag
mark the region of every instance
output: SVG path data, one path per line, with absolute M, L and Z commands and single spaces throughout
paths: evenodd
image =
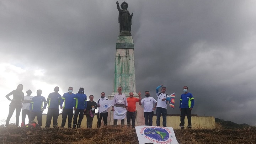
M 160 87 L 162 87 L 161 92 L 159 92 Z M 156 126 L 160 126 L 160 117 L 162 113 L 163 127 L 166 127 L 166 117 L 167 117 L 167 100 L 170 100 L 169 95 L 165 94 L 166 87 L 158 86 L 156 87 L 157 105 L 156 105 Z

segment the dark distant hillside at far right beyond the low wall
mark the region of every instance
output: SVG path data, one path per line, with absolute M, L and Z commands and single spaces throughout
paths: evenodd
M 215 122 L 219 123 L 223 126 L 225 129 L 241 129 L 241 128 L 249 128 L 250 125 L 243 123 L 243 124 L 237 124 L 231 121 L 224 121 L 223 119 L 215 118 Z

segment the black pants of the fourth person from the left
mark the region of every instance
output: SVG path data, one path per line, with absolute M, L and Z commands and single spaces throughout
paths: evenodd
M 58 116 L 59 116 L 59 108 L 48 108 L 47 116 L 46 116 L 46 128 L 50 127 L 53 117 L 53 127 L 58 126 Z

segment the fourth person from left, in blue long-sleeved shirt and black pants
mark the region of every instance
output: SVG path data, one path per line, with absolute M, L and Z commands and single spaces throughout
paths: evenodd
M 58 94 L 59 87 L 56 86 L 47 98 L 48 112 L 46 116 L 46 128 L 50 127 L 53 118 L 53 127 L 58 127 L 58 116 L 59 116 L 59 105 L 61 100 L 61 95 Z

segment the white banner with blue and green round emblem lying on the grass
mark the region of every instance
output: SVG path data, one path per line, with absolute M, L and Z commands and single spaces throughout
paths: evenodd
M 135 129 L 140 144 L 178 144 L 171 127 L 137 126 Z

